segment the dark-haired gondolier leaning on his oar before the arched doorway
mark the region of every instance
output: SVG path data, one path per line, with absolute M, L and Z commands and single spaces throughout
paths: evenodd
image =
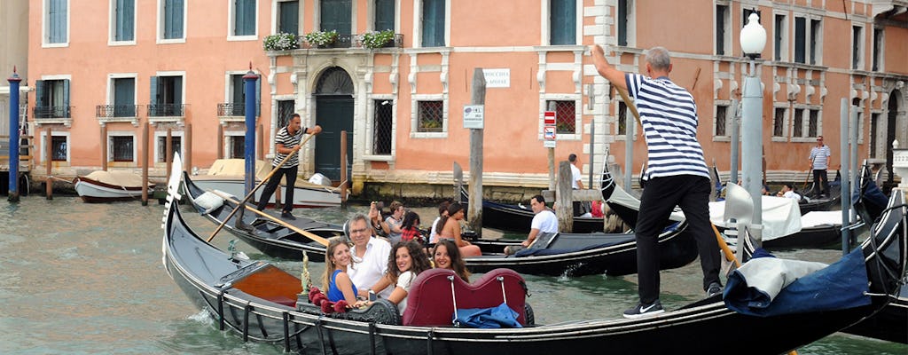
M 271 175 L 271 179 L 269 179 L 268 184 L 265 185 L 265 190 L 262 191 L 262 196 L 259 197 L 259 205 L 257 206 L 259 211 L 265 210 L 265 206 L 268 205 L 268 200 L 271 199 L 271 194 L 277 190 L 278 184 L 281 183 L 281 178 L 286 176 L 287 189 L 286 192 L 284 192 L 284 206 L 283 211 L 281 212 L 281 218 L 288 220 L 296 219 L 296 217 L 293 217 L 293 214 L 291 214 L 291 211 L 293 211 L 294 184 L 296 183 L 296 175 L 299 172 L 300 167 L 300 154 L 297 152 L 299 152 L 301 148 L 300 141 L 302 135 L 306 133 L 321 133 L 321 126 L 316 125 L 312 128 L 301 127 L 300 113 L 293 113 L 287 126 L 281 128 L 277 135 L 275 135 L 274 151 L 277 153 L 274 154 L 274 160 L 271 163 L 271 166 L 276 167 L 280 165 L 284 158 L 287 157 L 287 154 L 291 154 L 291 157 L 287 160 L 287 163 L 284 163 L 283 166 L 281 166 L 280 172 Z

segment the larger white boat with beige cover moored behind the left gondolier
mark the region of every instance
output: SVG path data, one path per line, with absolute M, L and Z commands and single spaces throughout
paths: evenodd
M 245 196 L 245 161 L 242 159 L 218 159 L 212 163 L 208 173 L 193 175 L 192 182 L 199 185 L 204 190 L 220 190 L 230 193 L 234 196 Z M 255 161 L 255 183 L 262 182 L 262 179 L 271 173 L 271 164 L 261 160 Z M 285 189 L 287 188 L 286 179 L 281 180 L 279 189 L 281 200 L 283 200 Z M 333 207 L 341 205 L 341 190 L 336 187 L 323 185 L 321 183 L 309 182 L 297 177 L 294 183 L 293 207 Z M 264 186 L 255 192 L 255 202 L 259 201 Z M 274 204 L 275 196 L 278 192 L 271 194 L 269 204 Z M 281 201 L 284 203 L 284 201 Z

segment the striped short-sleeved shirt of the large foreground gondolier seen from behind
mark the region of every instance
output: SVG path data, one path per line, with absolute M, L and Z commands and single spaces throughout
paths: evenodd
M 665 76 L 626 74 L 625 79 L 646 134 L 649 162 L 644 180 L 676 175 L 708 179 L 703 148 L 696 141 L 694 96 Z

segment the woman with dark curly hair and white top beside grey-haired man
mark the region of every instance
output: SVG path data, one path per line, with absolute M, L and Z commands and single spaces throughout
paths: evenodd
M 388 258 L 388 272 L 377 283 L 372 285 L 370 291 L 383 291 L 390 285 L 394 286 L 394 291 L 388 297 L 398 305 L 398 311 L 403 314 L 407 309 L 407 294 L 410 293 L 410 284 L 419 275 L 419 272 L 427 271 L 432 268 L 429 263 L 429 257 L 425 251 L 422 251 L 422 245 L 419 242 L 398 242 L 392 249 L 390 258 Z

